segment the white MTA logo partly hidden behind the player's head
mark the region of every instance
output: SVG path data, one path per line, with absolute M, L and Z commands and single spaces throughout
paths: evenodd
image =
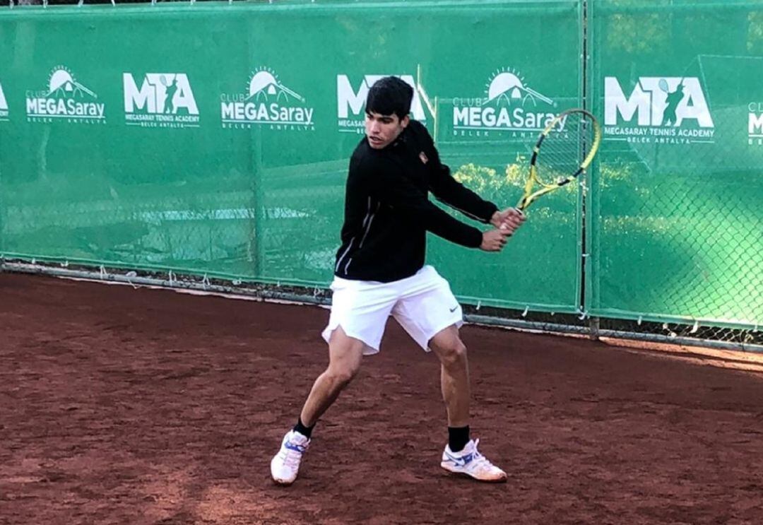
M 369 89 L 378 79 L 389 75 L 365 75 L 356 91 L 347 75 L 336 76 L 336 116 L 343 133 L 365 133 L 365 98 Z M 414 99 L 410 103 L 411 116 L 417 121 L 426 121 L 416 82 L 412 75 L 394 75 L 414 89 Z

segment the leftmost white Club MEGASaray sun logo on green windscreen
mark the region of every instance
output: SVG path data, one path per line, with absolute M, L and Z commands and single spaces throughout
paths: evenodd
M 27 91 L 27 121 L 105 124 L 105 104 L 65 66 L 50 72 L 47 89 Z

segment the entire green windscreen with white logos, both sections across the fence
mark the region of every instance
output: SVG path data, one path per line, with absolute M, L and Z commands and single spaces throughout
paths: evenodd
M 326 286 L 387 75 L 501 208 L 553 115 L 587 108 L 603 129 L 580 183 L 504 252 L 430 236 L 463 301 L 763 324 L 759 0 L 2 10 L 0 254 Z

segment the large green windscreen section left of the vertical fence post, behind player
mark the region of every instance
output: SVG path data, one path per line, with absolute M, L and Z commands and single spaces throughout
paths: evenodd
M 414 85 L 452 173 L 507 207 L 582 103 L 581 42 L 572 1 L 2 11 L 0 252 L 327 285 L 376 79 Z M 580 207 L 560 192 L 503 253 L 432 238 L 428 260 L 466 301 L 578 311 Z

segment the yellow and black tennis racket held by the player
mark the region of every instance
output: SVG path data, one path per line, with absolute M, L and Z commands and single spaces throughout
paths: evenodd
M 517 208 L 525 211 L 541 195 L 574 181 L 591 165 L 601 128 L 593 114 L 568 109 L 542 130 L 530 158 L 530 173 Z

